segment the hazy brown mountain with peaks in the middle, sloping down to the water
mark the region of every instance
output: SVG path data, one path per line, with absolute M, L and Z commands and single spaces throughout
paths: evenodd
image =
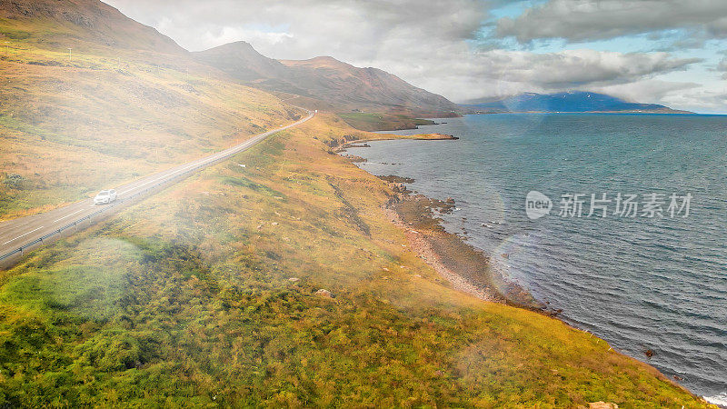
M 377 68 L 359 68 L 330 56 L 274 60 L 238 42 L 194 53 L 197 61 L 267 91 L 300 95 L 310 105 L 336 110 L 379 110 L 417 115 L 451 115 L 459 109 L 435 95 Z

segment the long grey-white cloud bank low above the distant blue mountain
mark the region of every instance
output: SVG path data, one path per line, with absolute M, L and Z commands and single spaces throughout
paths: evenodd
M 666 53 L 568 50 L 537 54 L 491 50 L 471 53 L 453 64 L 431 67 L 421 75 L 425 88 L 453 95 L 455 101 L 461 102 L 521 92 L 592 90 L 626 85 L 684 70 L 699 61 L 673 58 Z M 409 73 L 406 66 L 396 66 L 394 62 L 388 64 L 407 75 L 415 74 Z

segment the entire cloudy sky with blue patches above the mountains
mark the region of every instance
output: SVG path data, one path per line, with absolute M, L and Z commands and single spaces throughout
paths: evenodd
M 382 68 L 454 102 L 603 92 L 727 114 L 727 0 L 105 0 L 190 51 Z

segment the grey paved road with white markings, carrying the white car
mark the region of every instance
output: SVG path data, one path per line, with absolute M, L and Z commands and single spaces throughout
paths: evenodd
M 197 169 L 202 169 L 206 166 L 213 165 L 215 162 L 218 162 L 224 158 L 243 152 L 244 150 L 247 150 L 253 145 L 261 142 L 267 136 L 274 135 L 278 132 L 284 131 L 285 129 L 297 125 L 301 125 L 313 117 L 314 113 L 309 112 L 308 116 L 294 124 L 283 126 L 281 128 L 265 132 L 264 134 L 255 135 L 254 137 L 246 140 L 240 145 L 235 145 L 214 155 L 206 156 L 202 159 L 195 160 L 194 162 L 190 162 L 188 164 L 178 165 L 163 172 L 149 175 L 132 183 L 116 187 L 115 190 L 118 193 L 118 198 L 113 205 L 128 205 L 129 203 L 136 202 L 146 197 L 147 193 L 151 194 L 153 191 L 150 191 L 150 188 L 162 184 L 168 185 L 174 180 L 179 180 L 178 177 L 181 175 L 185 175 L 190 172 L 194 172 Z M 104 206 L 109 205 L 94 205 L 94 199 L 86 199 L 82 202 L 78 202 L 73 205 L 67 205 L 65 207 L 60 207 L 49 212 L 33 214 L 0 223 L 0 257 L 5 254 L 14 252 L 27 244 L 32 244 L 41 237 L 44 237 L 48 234 L 53 234 L 54 232 L 57 232 L 59 229 L 62 229 L 69 224 L 74 224 L 76 221 L 83 219 L 89 214 L 95 214 Z M 105 213 L 110 214 L 112 212 Z M 98 217 L 98 220 L 101 219 L 102 217 Z M 86 222 L 87 223 L 82 224 L 84 227 L 89 224 L 95 223 L 94 219 L 89 219 Z M 77 227 L 75 226 L 74 228 L 67 230 L 75 231 L 76 229 Z M 60 235 L 61 234 L 55 234 L 55 236 L 49 237 L 48 239 L 44 240 L 44 243 L 51 242 L 53 241 L 53 239 L 57 238 L 56 236 Z M 17 254 L 17 256 L 19 255 L 20 253 Z M 8 265 L 10 264 L 9 261 L 11 259 L 16 259 L 17 256 L 8 257 L 5 261 L 0 262 L 0 264 Z

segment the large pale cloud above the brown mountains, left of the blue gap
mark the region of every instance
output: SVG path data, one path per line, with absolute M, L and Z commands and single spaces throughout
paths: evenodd
M 473 38 L 488 10 L 479 0 L 420 2 L 418 0 L 108 0 L 122 12 L 144 24 L 164 26 L 191 51 L 223 45 L 224 30 L 287 32 L 294 36 L 287 58 L 304 58 L 356 48 L 375 55 L 376 45 L 392 38 L 434 42 Z M 241 30 L 240 33 L 244 33 Z M 240 38 L 244 39 L 244 38 Z M 268 47 L 261 42 L 258 46 Z M 271 51 L 271 50 L 268 50 Z M 275 50 L 273 50 L 275 51 Z

